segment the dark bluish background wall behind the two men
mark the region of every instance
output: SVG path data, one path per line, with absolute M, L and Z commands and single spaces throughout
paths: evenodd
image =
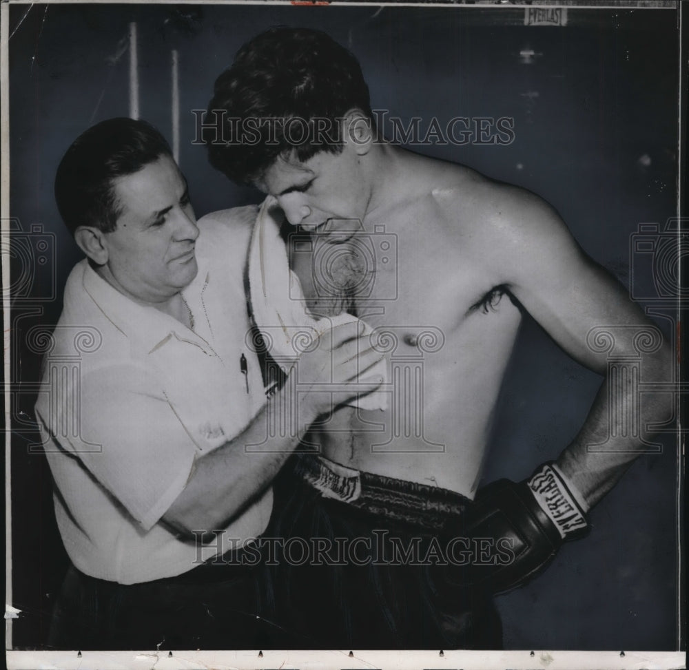
M 168 137 L 170 54 L 178 50 L 180 163 L 198 216 L 260 196 L 209 167 L 203 147 L 192 144 L 191 110 L 205 107 L 214 78 L 250 36 L 269 25 L 305 25 L 358 56 L 374 108 L 421 116 L 423 124 L 433 116 L 441 125 L 453 116 L 514 118 L 509 145 L 417 148 L 539 193 L 595 260 L 650 299 L 650 269 L 630 275 L 630 238 L 639 222 L 662 228 L 675 211 L 676 14 L 570 9 L 566 27 L 525 27 L 523 18 L 517 9 L 400 6 L 10 7 L 10 213 L 22 229 L 13 264 L 21 300 L 12 322 L 12 381 L 21 382 L 12 407 L 12 604 L 23 610 L 15 647 L 45 645 L 66 565 L 50 472 L 30 448 L 39 357 L 25 346 L 32 326 L 56 321 L 66 275 L 80 258 L 56 211 L 52 180 L 78 134 L 129 112 L 130 21 L 138 26 L 141 117 Z M 31 232 L 32 224 L 42 229 Z M 42 265 L 39 235 L 54 251 Z M 674 333 L 670 320 L 658 323 Z M 485 481 L 526 477 L 555 457 L 598 385 L 526 322 Z M 588 538 L 564 547 L 531 585 L 498 598 L 506 648 L 677 648 L 677 450 L 674 436 L 662 442 L 595 508 Z

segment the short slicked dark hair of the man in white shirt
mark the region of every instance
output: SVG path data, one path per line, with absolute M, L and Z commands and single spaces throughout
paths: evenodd
M 65 152 L 55 175 L 55 200 L 72 235 L 80 226 L 114 231 L 121 214 L 113 181 L 161 156 L 172 157 L 165 138 L 145 121 L 110 118 L 83 132 Z

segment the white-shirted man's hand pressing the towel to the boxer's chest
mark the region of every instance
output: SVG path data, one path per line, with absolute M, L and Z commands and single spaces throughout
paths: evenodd
M 363 329 L 356 321 L 329 328 L 317 346 L 300 356 L 291 374 L 296 373 L 301 401 L 316 415 L 368 395 L 382 384 L 382 377 L 367 377 L 383 355 L 371 347 L 368 337 L 361 337 Z

